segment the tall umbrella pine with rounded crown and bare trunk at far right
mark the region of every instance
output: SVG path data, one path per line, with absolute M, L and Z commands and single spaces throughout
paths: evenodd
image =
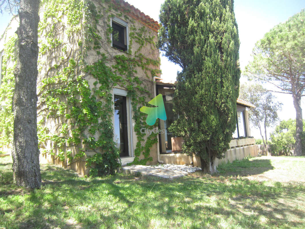
M 292 95 L 296 109 L 296 150 L 302 152 L 301 96 L 305 88 L 305 10 L 278 24 L 258 41 L 253 61 L 246 67 L 250 78 L 272 84 L 277 92 Z

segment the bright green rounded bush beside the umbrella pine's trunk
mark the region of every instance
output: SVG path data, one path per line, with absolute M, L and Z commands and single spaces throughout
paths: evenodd
M 303 120 L 303 123 L 304 120 Z M 303 129 L 304 129 L 303 125 Z M 272 141 L 271 152 L 274 155 L 292 155 L 296 143 L 296 120 L 283 120 L 276 126 L 274 132 L 270 134 Z M 302 142 L 304 139 L 302 138 Z

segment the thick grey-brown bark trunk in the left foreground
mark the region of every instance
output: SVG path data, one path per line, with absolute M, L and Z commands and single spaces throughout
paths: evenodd
M 14 71 L 13 176 L 17 185 L 41 187 L 37 138 L 38 0 L 20 0 L 19 60 Z

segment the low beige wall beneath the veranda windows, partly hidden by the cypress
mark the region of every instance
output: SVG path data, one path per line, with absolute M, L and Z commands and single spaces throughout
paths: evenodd
M 257 157 L 258 147 L 257 145 L 247 145 L 243 147 L 232 147 L 225 152 L 225 157 L 222 159 L 216 158 L 216 166 L 221 162 L 233 162 L 234 160 L 242 160 L 248 156 Z M 199 157 L 191 157 L 187 154 L 160 154 L 160 159 L 166 164 L 177 164 L 177 165 L 194 165 L 201 167 Z M 193 162 L 193 163 L 192 163 Z

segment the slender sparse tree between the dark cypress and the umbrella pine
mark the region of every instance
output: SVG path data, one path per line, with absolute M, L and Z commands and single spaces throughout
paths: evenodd
M 260 84 L 241 85 L 239 98 L 255 106 L 255 108 L 249 108 L 249 120 L 253 126 L 259 128 L 268 154 L 267 127 L 274 126 L 278 121 L 278 111 L 281 110 L 282 103 L 278 102 L 276 97 Z

